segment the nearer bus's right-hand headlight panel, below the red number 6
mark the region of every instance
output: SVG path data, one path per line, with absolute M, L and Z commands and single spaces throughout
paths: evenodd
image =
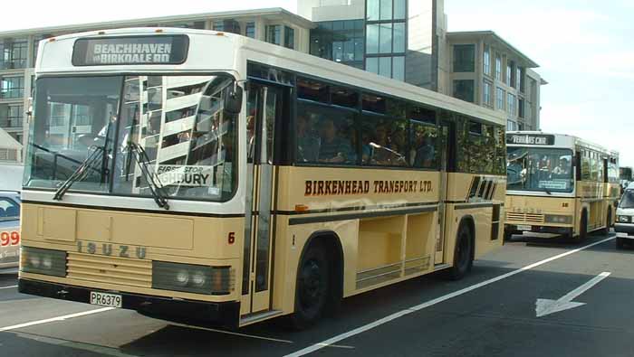
M 234 288 L 231 267 L 152 262 L 152 287 L 207 295 L 228 295 Z

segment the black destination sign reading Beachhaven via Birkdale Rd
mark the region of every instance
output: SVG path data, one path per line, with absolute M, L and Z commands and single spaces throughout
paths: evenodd
M 181 64 L 188 47 L 189 39 L 183 34 L 79 39 L 72 49 L 72 64 Z

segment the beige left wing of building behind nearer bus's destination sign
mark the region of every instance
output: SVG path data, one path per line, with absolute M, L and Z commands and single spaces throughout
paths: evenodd
M 40 40 L 66 33 L 120 27 L 186 27 L 239 33 L 301 52 L 309 51 L 314 23 L 281 8 L 191 14 L 109 23 L 85 23 L 0 33 L 0 128 L 24 144 L 34 87 L 34 66 Z

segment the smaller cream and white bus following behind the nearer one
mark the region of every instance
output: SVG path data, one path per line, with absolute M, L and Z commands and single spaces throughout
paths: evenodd
M 506 133 L 504 238 L 524 231 L 607 234 L 619 202 L 619 153 L 575 136 Z

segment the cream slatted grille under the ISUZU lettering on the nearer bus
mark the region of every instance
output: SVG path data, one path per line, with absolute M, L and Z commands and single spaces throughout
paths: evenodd
M 152 262 L 69 252 L 67 277 L 131 287 L 152 287 Z

